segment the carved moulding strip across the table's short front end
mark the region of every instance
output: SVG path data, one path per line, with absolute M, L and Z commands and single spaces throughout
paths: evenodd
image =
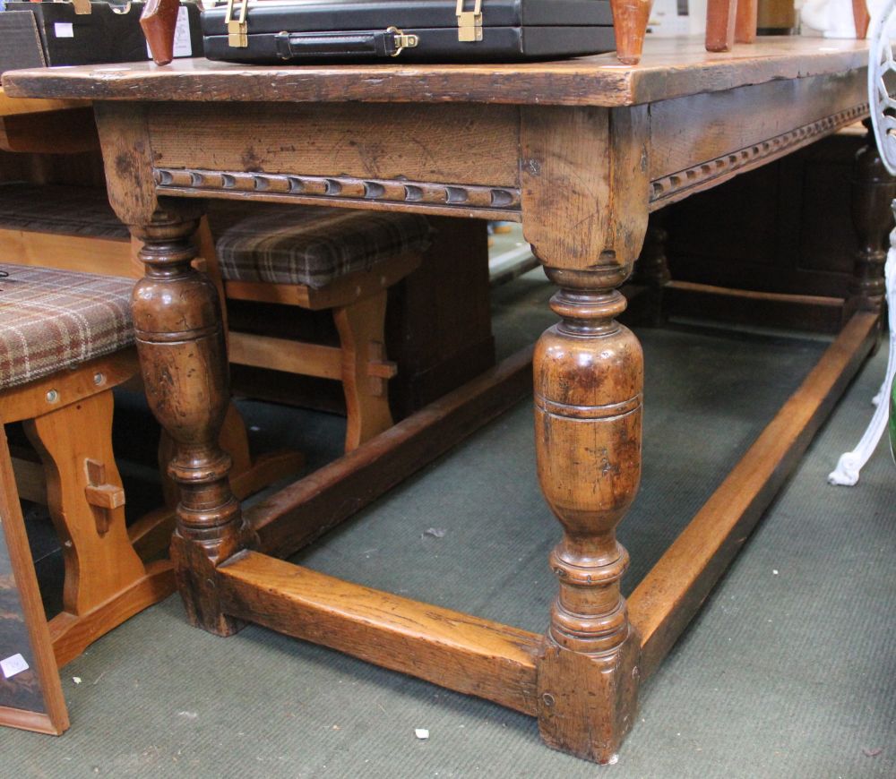
M 368 179 L 282 173 L 245 173 L 190 168 L 156 167 L 159 194 L 264 193 L 271 199 L 322 201 L 374 201 L 496 212 L 519 211 L 520 191 L 511 187 L 475 184 L 434 184 L 402 179 Z

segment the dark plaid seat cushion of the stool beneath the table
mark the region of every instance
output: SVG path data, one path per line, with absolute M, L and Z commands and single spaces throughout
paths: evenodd
M 264 206 L 246 215 L 228 203 L 212 206 L 209 222 L 223 278 L 315 289 L 431 241 L 425 217 L 383 211 Z

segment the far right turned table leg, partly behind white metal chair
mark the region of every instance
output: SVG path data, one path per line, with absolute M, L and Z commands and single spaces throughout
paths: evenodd
M 864 124 L 868 130 L 866 145 L 856 155 L 851 193 L 858 248 L 849 286 L 848 315 L 859 310 L 881 310 L 886 294 L 883 265 L 893 221 L 891 203 L 896 197 L 896 181 L 883 166 L 870 120 Z

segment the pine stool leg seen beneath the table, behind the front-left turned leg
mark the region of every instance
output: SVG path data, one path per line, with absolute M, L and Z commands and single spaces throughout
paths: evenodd
M 345 450 L 392 427 L 386 380 L 395 373 L 384 360 L 387 291 L 333 309 L 342 347 L 342 388 L 348 412 Z

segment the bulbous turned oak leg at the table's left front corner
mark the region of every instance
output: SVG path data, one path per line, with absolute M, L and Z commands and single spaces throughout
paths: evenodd
M 157 213 L 133 229 L 146 267 L 134 288 L 134 330 L 150 407 L 176 444 L 168 475 L 180 488 L 171 543 L 177 585 L 190 621 L 227 636 L 241 625 L 221 613 L 214 569 L 250 539 L 230 492 L 230 458 L 218 444 L 227 352 L 218 291 L 190 264 L 197 225 Z

